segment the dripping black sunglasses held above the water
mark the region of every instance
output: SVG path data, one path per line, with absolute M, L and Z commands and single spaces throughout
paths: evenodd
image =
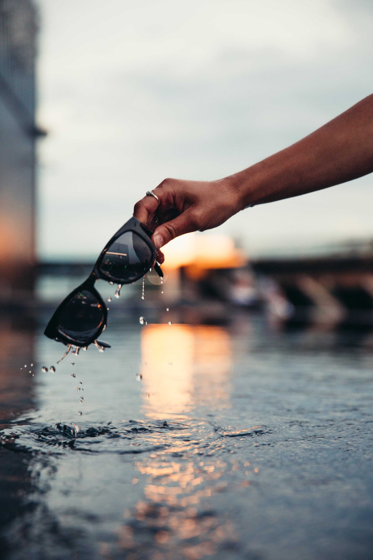
M 95 343 L 99 349 L 110 347 L 97 340 L 107 324 L 107 308 L 95 288 L 99 278 L 112 284 L 130 284 L 154 269 L 160 278 L 162 270 L 155 260 L 157 250 L 150 237 L 153 232 L 131 218 L 116 232 L 98 257 L 87 280 L 75 288 L 58 306 L 44 334 L 76 351 Z

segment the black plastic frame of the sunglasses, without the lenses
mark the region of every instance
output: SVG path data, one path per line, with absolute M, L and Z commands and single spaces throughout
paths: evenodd
M 69 346 L 69 344 L 72 344 L 73 346 L 77 346 L 77 347 L 82 348 L 82 347 L 87 347 L 87 346 L 89 346 L 89 344 L 92 344 L 93 342 L 95 342 L 97 337 L 99 337 L 100 334 L 103 332 L 103 330 L 106 329 L 107 307 L 106 307 L 105 302 L 103 301 L 102 296 L 100 295 L 100 293 L 98 293 L 98 291 L 95 288 L 96 280 L 101 279 L 101 280 L 105 280 L 106 282 L 113 282 L 115 284 L 121 284 L 121 285 L 132 284 L 132 283 L 138 281 L 140 278 L 142 278 L 144 276 L 144 274 L 149 272 L 150 268 L 152 268 L 152 267 L 145 267 L 144 272 L 141 272 L 141 273 L 137 274 L 134 278 L 132 278 L 129 281 L 119 280 L 118 278 L 108 276 L 108 274 L 103 274 L 100 271 L 100 268 L 99 268 L 100 263 L 103 259 L 103 256 L 105 256 L 108 248 L 121 235 L 125 234 L 128 231 L 132 231 L 133 233 L 138 235 L 148 245 L 149 249 L 152 251 L 152 260 L 151 260 L 151 262 L 153 263 L 152 267 L 154 268 L 155 272 L 157 272 L 158 276 L 160 276 L 160 278 L 163 278 L 163 272 L 160 269 L 159 264 L 155 260 L 157 258 L 157 249 L 155 249 L 155 247 L 153 245 L 153 242 L 150 239 L 150 237 L 153 235 L 153 232 L 151 230 L 149 230 L 149 228 L 147 226 L 144 226 L 143 223 L 136 220 L 136 218 L 134 218 L 134 217 L 130 218 L 130 220 L 128 222 L 126 222 L 124 224 L 124 226 L 122 226 L 120 228 L 120 230 L 118 230 L 116 232 L 116 234 L 114 234 L 111 237 L 110 241 L 107 242 L 107 244 L 105 245 L 105 248 L 103 248 L 103 250 L 100 253 L 100 256 L 96 260 L 95 266 L 93 267 L 93 270 L 92 270 L 91 274 L 89 274 L 88 278 L 82 284 L 80 284 L 80 286 L 75 288 L 75 290 L 70 292 L 69 295 L 67 297 L 65 297 L 65 299 L 62 301 L 62 303 L 60 303 L 60 305 L 57 307 L 57 309 L 55 310 L 53 316 L 51 317 L 48 325 L 45 328 L 44 334 L 45 334 L 46 337 L 51 338 L 52 340 L 56 340 L 57 342 L 62 342 L 66 346 Z M 83 290 L 90 292 L 97 299 L 98 303 L 102 306 L 102 310 L 103 310 L 103 321 L 102 321 L 101 326 L 99 326 L 97 331 L 95 332 L 95 334 L 91 338 L 86 340 L 86 342 L 84 342 L 84 343 L 77 342 L 77 340 L 74 340 L 70 337 L 67 337 L 66 335 L 60 333 L 59 330 L 58 330 L 60 315 L 61 315 L 62 310 L 64 309 L 64 306 L 75 295 L 77 295 L 77 293 L 79 293 Z

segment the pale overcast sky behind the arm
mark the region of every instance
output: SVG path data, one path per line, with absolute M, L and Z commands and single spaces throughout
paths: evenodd
M 166 177 L 219 179 L 373 91 L 371 0 L 39 0 L 41 258 L 97 255 Z M 373 176 L 248 209 L 249 253 L 373 237 Z

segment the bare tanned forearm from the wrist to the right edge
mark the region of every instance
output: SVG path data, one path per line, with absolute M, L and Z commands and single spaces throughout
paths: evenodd
M 373 95 L 292 146 L 226 178 L 239 209 L 296 197 L 373 171 Z

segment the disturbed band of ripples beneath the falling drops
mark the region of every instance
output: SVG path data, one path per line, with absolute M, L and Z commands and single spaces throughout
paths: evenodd
M 261 436 L 270 431 L 264 426 L 249 430 L 229 430 L 213 426 L 210 422 L 188 420 L 122 421 L 91 426 L 86 422 L 76 424 L 58 422 L 53 425 L 27 423 L 4 427 L 0 432 L 0 446 L 13 451 L 52 452 L 76 451 L 139 454 L 168 449 L 173 456 L 185 457 L 191 452 L 213 454 L 216 449 L 229 451 L 224 438 Z M 113 441 L 115 440 L 115 441 Z M 233 444 L 232 444 L 233 445 Z

